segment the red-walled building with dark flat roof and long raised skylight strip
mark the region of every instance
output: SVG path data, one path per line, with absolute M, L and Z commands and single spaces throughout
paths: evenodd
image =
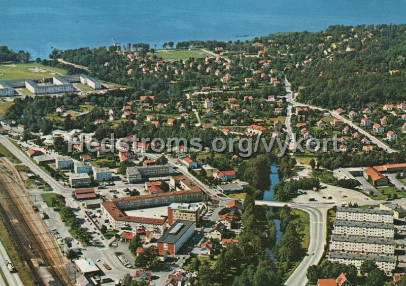
M 170 229 L 158 239 L 159 250 L 166 250 L 169 254 L 175 255 L 194 233 L 194 222 L 177 220 Z

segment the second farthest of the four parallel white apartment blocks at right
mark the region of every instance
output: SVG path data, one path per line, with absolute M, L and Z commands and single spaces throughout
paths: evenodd
M 333 234 L 393 238 L 395 227 L 391 223 L 336 220 Z

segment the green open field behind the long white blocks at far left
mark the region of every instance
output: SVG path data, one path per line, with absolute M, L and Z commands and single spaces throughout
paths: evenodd
M 41 79 L 61 74 L 66 74 L 66 70 L 39 63 L 0 65 L 0 80 Z

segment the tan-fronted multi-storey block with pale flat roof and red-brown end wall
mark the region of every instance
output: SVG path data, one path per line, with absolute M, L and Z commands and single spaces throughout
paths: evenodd
M 174 202 L 168 206 L 168 223 L 177 220 L 193 221 L 196 226 L 200 223 L 200 207 L 194 203 Z

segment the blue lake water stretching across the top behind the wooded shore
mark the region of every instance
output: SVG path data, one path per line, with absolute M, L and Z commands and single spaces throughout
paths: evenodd
M 48 58 L 51 47 L 111 46 L 112 37 L 161 48 L 170 41 L 406 22 L 404 0 L 20 0 L 0 7 L 0 45 L 28 50 L 32 59 Z

